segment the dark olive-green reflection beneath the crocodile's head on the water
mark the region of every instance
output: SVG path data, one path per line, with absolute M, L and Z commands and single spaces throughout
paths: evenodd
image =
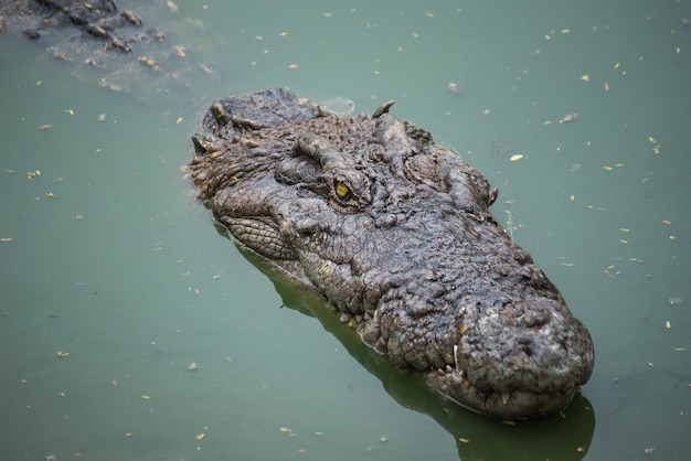
M 227 236 L 222 227 L 217 230 Z M 581 393 L 561 414 L 528 421 L 500 421 L 477 415 L 432 392 L 421 376 L 396 368 L 385 356 L 364 345 L 354 330 L 340 322 L 316 292 L 251 250 L 240 249 L 269 277 L 285 307 L 317 318 L 352 357 L 382 382 L 396 401 L 442 425 L 454 437 L 460 459 L 576 460 L 585 457 L 595 430 L 595 411 Z

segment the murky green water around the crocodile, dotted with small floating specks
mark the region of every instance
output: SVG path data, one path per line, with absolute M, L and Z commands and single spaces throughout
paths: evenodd
M 0 459 L 688 459 L 690 1 L 176 3 L 118 4 L 185 47 L 185 85 L 106 90 L 0 35 Z M 214 228 L 189 136 L 268 86 L 396 99 L 499 187 L 595 341 L 562 416 L 435 396 Z

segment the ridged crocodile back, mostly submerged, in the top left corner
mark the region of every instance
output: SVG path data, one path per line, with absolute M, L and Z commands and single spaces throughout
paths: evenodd
M 114 0 L 0 0 L 0 32 L 23 35 L 47 55 L 72 65 L 72 75 L 118 93 L 137 93 L 139 99 L 189 89 L 193 82 L 215 78 L 204 64 L 187 56 L 200 44 L 174 43 L 174 32 L 194 21 L 174 20 L 172 2 L 134 3 L 121 8 Z M 152 25 L 164 23 L 166 31 Z M 169 40 L 168 29 L 173 32 Z

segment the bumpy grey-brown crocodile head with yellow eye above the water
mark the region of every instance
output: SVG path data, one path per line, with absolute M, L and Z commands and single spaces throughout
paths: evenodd
M 487 179 L 391 105 L 346 118 L 285 89 L 219 100 L 193 138 L 199 197 L 443 395 L 502 418 L 562 409 L 591 376 L 588 331 L 490 214 Z

